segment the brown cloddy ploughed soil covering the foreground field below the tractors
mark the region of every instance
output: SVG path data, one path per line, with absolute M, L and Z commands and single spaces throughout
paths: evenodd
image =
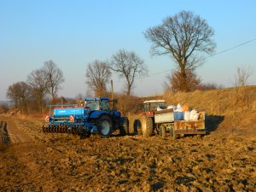
M 256 127 L 79 139 L 0 116 L 0 191 L 255 191 Z

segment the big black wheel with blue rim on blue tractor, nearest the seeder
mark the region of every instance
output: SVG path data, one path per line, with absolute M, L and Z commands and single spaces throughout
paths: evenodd
M 96 120 L 99 134 L 101 137 L 109 137 L 112 133 L 112 120 L 104 115 Z

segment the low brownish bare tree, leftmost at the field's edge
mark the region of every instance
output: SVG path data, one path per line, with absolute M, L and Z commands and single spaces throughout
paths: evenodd
M 9 85 L 6 96 L 13 102 L 15 102 L 15 108 L 19 106 L 20 113 L 26 112 L 26 100 L 31 95 L 29 86 L 21 81 L 15 84 Z

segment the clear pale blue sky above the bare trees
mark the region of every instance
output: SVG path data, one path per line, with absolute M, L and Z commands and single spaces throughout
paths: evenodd
M 152 57 L 143 32 L 181 10 L 201 15 L 212 26 L 216 53 L 256 38 L 254 0 L 1 0 L 0 100 L 6 99 L 10 84 L 26 81 L 32 70 L 49 60 L 66 79 L 59 96 L 85 95 L 88 64 L 108 60 L 118 49 L 136 52 L 148 66 L 148 78 L 137 80 L 134 93 L 160 94 L 173 61 L 168 55 Z M 256 41 L 208 58 L 197 72 L 205 83 L 229 87 L 235 82 L 236 67 L 242 66 L 253 69 L 249 84 L 256 84 Z M 121 91 L 124 80 L 113 80 L 114 90 Z

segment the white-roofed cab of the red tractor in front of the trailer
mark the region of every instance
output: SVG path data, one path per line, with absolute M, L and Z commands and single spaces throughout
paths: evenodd
M 143 102 L 143 114 L 147 116 L 153 116 L 154 112 L 157 110 L 166 109 L 165 100 L 148 100 Z

